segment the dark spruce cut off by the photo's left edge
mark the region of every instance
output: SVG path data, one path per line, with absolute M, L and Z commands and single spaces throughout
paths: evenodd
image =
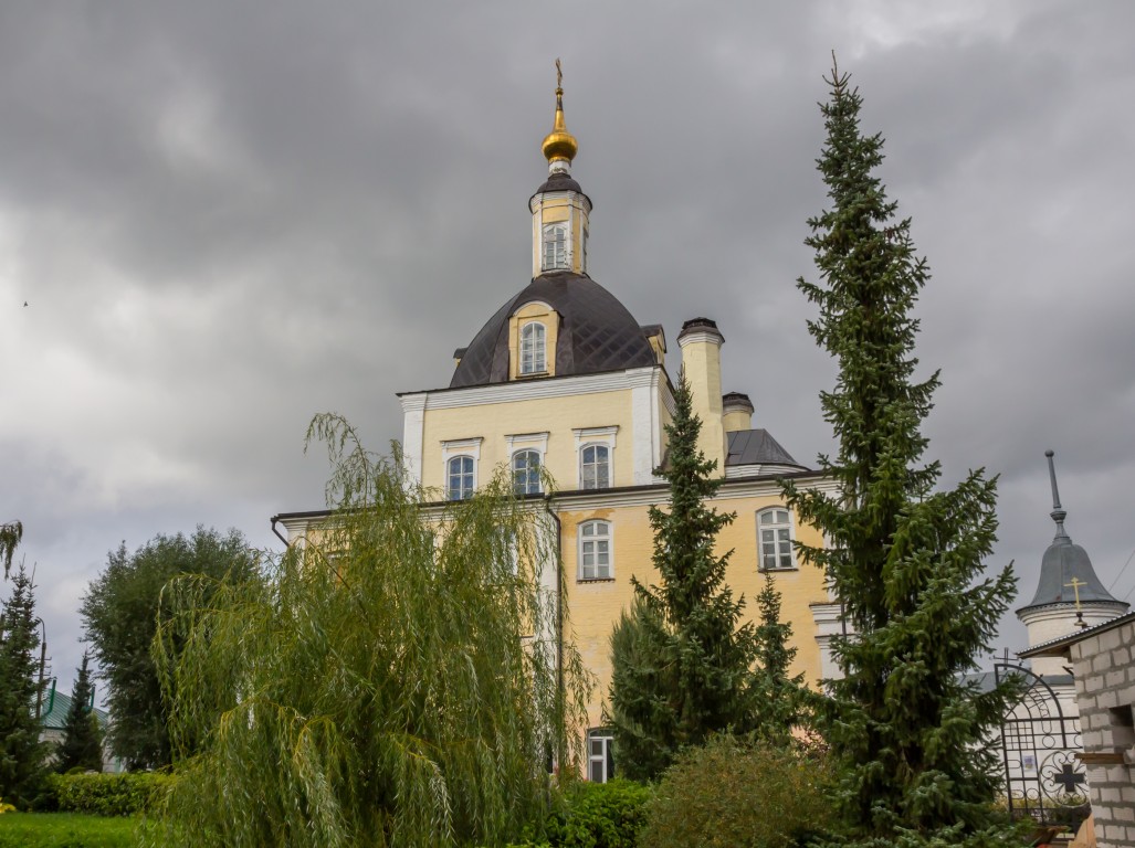
M 31 803 L 43 778 L 45 746 L 35 714 L 42 693 L 39 651 L 34 586 L 20 565 L 0 605 L 0 797 L 17 807 Z

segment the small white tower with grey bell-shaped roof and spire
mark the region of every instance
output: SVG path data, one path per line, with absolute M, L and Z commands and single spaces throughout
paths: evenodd
M 1077 628 L 1110 621 L 1127 612 L 1130 604 L 1116 600 L 1100 582 L 1087 551 L 1075 544 L 1065 529 L 1067 511 L 1060 506 L 1053 452 L 1048 450 L 1049 477 L 1052 482 L 1052 520 L 1057 535 L 1041 560 L 1041 579 L 1036 594 L 1017 610 L 1017 618 L 1028 628 L 1028 646 L 1060 636 Z M 1036 658 L 1033 671 L 1037 675 L 1062 675 L 1060 658 Z

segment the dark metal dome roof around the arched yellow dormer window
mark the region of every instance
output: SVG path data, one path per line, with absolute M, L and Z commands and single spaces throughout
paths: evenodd
M 508 317 L 540 300 L 560 313 L 555 374 L 597 374 L 656 365 L 642 329 L 627 307 L 587 274 L 541 274 L 481 328 L 449 381 L 451 389 L 508 381 Z

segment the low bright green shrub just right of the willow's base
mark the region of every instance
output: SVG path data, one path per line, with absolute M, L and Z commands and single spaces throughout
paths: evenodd
M 545 823 L 550 848 L 634 848 L 651 790 L 630 780 L 578 783 Z M 539 843 L 537 843 L 539 845 Z

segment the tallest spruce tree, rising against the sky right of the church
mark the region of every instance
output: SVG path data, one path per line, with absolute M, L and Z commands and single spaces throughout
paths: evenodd
M 827 83 L 817 166 L 830 209 L 808 221 L 806 241 L 822 283 L 798 286 L 818 305 L 809 331 L 839 364 L 821 395 L 839 453 L 821 467 L 840 492 L 784 487 L 829 540 L 799 550 L 829 575 L 855 630 L 834 644 L 842 678 L 831 681 L 827 739 L 842 765 L 839 802 L 859 845 L 993 845 L 1006 831 L 984 740 L 1010 693 L 978 693 L 962 676 L 1015 594 L 1011 567 L 982 578 L 997 480 L 970 472 L 939 491 L 939 464 L 922 461 L 939 378 L 915 380 L 911 311 L 930 273 L 874 176 L 883 139 L 860 132 L 858 91 L 834 66 Z

